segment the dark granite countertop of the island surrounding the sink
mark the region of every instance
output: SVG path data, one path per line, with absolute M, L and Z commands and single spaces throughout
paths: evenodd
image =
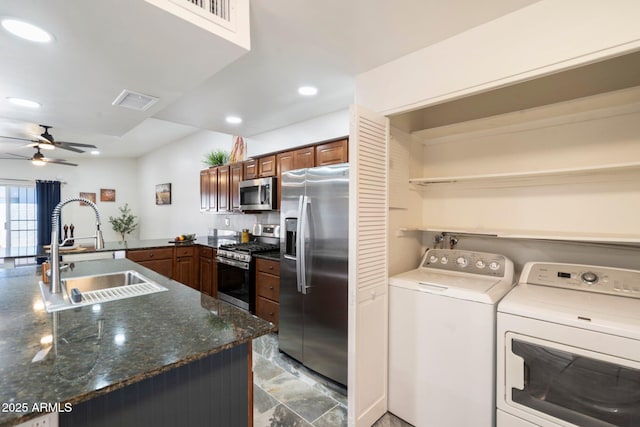
M 136 270 L 168 292 L 47 313 L 39 269 L 0 270 L 0 426 L 76 404 L 253 338 L 273 325 L 127 259 L 74 263 L 62 277 Z M 40 360 L 38 360 L 40 358 Z M 15 405 L 14 405 L 15 407 Z

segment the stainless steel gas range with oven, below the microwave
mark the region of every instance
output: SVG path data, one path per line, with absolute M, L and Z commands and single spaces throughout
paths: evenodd
M 218 248 L 218 298 L 255 313 L 256 253 L 279 250 L 279 245 L 247 242 Z

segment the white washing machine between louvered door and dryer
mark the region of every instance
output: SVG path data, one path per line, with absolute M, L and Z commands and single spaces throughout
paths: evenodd
M 495 321 L 512 288 L 502 255 L 431 249 L 389 279 L 389 412 L 418 427 L 495 425 Z

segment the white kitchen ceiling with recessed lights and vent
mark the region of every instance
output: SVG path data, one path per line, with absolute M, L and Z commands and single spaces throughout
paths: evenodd
M 252 0 L 244 54 L 143 0 L 3 0 L 0 17 L 28 20 L 56 40 L 0 30 L 0 135 L 38 135 L 42 123 L 57 140 L 95 144 L 109 157 L 137 157 L 201 130 L 251 137 L 344 109 L 357 74 L 536 1 Z M 318 95 L 299 96 L 303 84 Z M 125 88 L 160 101 L 146 112 L 112 106 Z M 13 106 L 11 96 L 42 108 Z M 228 114 L 243 123 L 227 124 Z M 0 140 L 0 152 L 9 150 L 33 151 Z

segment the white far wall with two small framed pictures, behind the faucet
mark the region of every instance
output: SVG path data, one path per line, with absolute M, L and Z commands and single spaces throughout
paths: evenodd
M 78 197 L 80 192 L 96 193 L 96 206 L 102 221 L 106 241 L 119 240 L 111 229 L 109 216 L 118 216 L 118 207 L 129 203 L 134 215 L 138 210 L 137 173 L 134 159 L 74 158 L 77 167 L 48 164 L 33 166 L 26 161 L 0 160 L 0 178 L 35 181 L 58 180 L 65 182 L 61 198 Z M 115 202 L 101 202 L 100 189 L 115 189 Z M 88 206 L 70 203 L 62 209 L 62 224 L 74 224 L 75 235 L 92 236 L 95 233 L 95 214 Z M 133 236 L 136 234 L 134 233 Z M 80 243 L 80 242 L 79 242 Z

